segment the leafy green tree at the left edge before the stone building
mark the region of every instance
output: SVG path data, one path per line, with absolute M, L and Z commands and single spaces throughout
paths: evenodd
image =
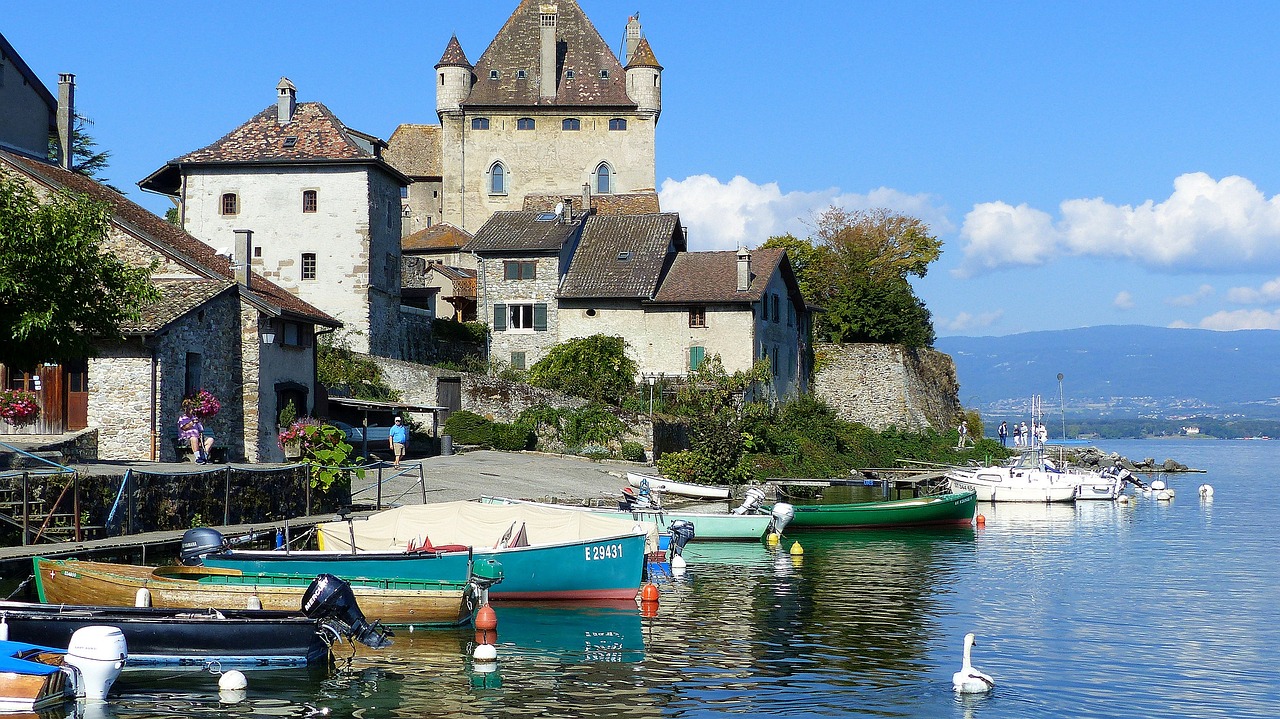
M 20 179 L 0 177 L 0 362 L 29 370 L 83 360 L 160 298 L 150 267 L 101 251 L 110 223 L 102 202 L 70 192 L 41 202 Z

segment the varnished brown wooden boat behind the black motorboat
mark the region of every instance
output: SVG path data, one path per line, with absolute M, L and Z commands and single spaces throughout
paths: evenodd
M 253 573 L 219 567 L 140 567 L 35 558 L 36 592 L 45 604 L 294 610 L 317 574 Z M 465 574 L 463 574 L 465 576 Z M 461 580 L 343 577 L 360 608 L 383 624 L 456 627 L 471 620 L 474 596 Z M 145 590 L 145 592 L 143 592 Z

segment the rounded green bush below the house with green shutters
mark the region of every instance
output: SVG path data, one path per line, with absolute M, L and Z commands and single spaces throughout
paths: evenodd
M 529 384 L 585 399 L 620 404 L 635 389 L 636 363 L 621 336 L 562 342 L 529 368 Z

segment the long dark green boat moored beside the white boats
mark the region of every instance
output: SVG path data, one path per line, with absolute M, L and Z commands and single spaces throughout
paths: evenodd
M 977 507 L 973 491 L 855 504 L 796 504 L 787 531 L 968 526 Z

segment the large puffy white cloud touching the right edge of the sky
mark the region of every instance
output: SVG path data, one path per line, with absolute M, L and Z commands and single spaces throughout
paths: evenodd
M 1280 196 L 1245 178 L 1188 173 L 1167 200 L 1137 207 L 1102 198 L 1065 200 L 1060 216 L 1027 205 L 974 205 L 960 228 L 955 274 L 1043 265 L 1061 256 L 1120 257 L 1158 269 L 1280 266 Z

